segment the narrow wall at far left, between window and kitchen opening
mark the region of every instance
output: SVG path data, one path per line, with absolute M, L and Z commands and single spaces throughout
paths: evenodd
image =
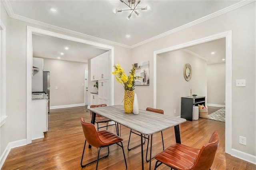
M 1 3 L 1 20 L 6 26 L 6 123 L 1 127 L 1 150 L 9 142 L 26 138 L 26 26 L 8 17 Z M 18 121 L 17 121 L 18 120 Z M 15 121 L 15 123 L 13 123 Z

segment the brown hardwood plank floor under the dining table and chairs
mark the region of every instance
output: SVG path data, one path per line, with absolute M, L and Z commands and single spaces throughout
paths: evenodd
M 60 169 L 60 170 L 79 170 L 95 169 L 96 164 L 81 168 L 80 160 L 84 146 L 84 134 L 80 124 L 80 117 L 84 117 L 90 122 L 90 112 L 85 107 L 73 107 L 66 109 L 51 110 L 48 115 L 49 127 L 45 138 L 33 140 L 32 144 L 11 149 L 2 170 L 27 170 L 27 169 Z M 115 127 L 108 130 L 116 132 Z M 201 148 L 207 143 L 212 132 L 217 130 L 220 136 L 220 145 L 212 165 L 212 170 L 256 170 L 256 165 L 240 160 L 229 154 L 225 154 L 225 123 L 199 118 L 198 121 L 186 121 L 180 125 L 182 144 Z M 128 151 L 127 144 L 130 129 L 122 127 L 121 137 L 124 139 L 124 149 L 129 170 L 141 169 L 140 148 Z M 170 128 L 163 131 L 164 145 L 168 147 L 175 142 L 174 129 Z M 132 136 L 130 146 L 140 143 L 139 136 Z M 152 155 L 162 149 L 161 133 L 153 135 Z M 86 151 L 84 161 L 96 158 L 97 148 Z M 102 150 L 102 154 L 106 150 Z M 144 146 L 144 156 L 146 146 Z M 152 160 L 152 167 L 156 160 Z M 144 168 L 148 169 L 149 163 L 144 163 Z M 125 169 L 122 149 L 119 146 L 110 146 L 110 155 L 99 161 L 98 169 L 119 170 Z M 170 168 L 162 165 L 158 170 L 169 170 Z

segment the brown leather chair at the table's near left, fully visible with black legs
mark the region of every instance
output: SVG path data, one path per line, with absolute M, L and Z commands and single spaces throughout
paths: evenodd
M 81 124 L 82 124 L 82 128 L 83 128 L 83 131 L 84 131 L 84 137 L 85 137 L 84 150 L 85 150 L 86 141 L 91 146 L 99 148 L 98 149 L 97 160 L 94 160 L 94 161 L 92 161 L 90 163 L 87 163 L 87 164 L 84 164 L 84 165 L 82 164 L 83 158 L 84 158 L 84 150 L 83 150 L 83 154 L 82 154 L 82 158 L 81 158 L 81 167 L 82 168 L 84 168 L 85 166 L 88 166 L 89 164 L 97 162 L 97 164 L 96 164 L 96 170 L 97 170 L 99 160 L 108 157 L 108 155 L 109 155 L 109 146 L 111 146 L 113 144 L 117 144 L 118 146 L 120 146 L 122 148 L 123 154 L 124 154 L 124 147 L 123 147 L 123 143 L 122 143 L 122 140 L 123 140 L 122 138 L 120 138 L 119 136 L 117 136 L 116 134 L 113 134 L 112 132 L 110 132 L 108 130 L 96 131 L 96 128 L 92 123 L 85 123 L 84 122 L 84 118 L 81 118 Z M 120 144 L 119 144 L 119 142 L 120 142 Z M 102 148 L 105 148 L 105 147 L 108 147 L 108 154 L 106 156 L 102 156 L 101 158 L 99 158 L 100 150 Z M 125 154 L 124 154 L 124 162 L 125 162 L 125 166 L 126 166 L 126 170 L 127 170 L 127 163 L 126 163 Z

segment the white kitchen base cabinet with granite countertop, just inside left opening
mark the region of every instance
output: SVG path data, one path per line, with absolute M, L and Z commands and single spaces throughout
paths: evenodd
M 43 138 L 48 130 L 47 100 L 45 93 L 32 93 L 32 140 Z

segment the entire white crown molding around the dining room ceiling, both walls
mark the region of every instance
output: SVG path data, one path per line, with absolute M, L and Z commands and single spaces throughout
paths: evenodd
M 9 0 L 2 0 L 2 2 L 4 4 L 4 7 L 6 8 L 6 12 L 7 12 L 8 16 L 10 18 L 14 18 L 14 19 L 17 19 L 17 20 L 22 20 L 24 22 L 28 22 L 28 23 L 31 23 L 31 24 L 39 25 L 39 26 L 44 26 L 44 27 L 47 27 L 47 28 L 51 28 L 51 29 L 54 29 L 54 30 L 66 32 L 66 33 L 73 34 L 73 35 L 76 35 L 76 36 L 81 36 L 81 37 L 84 37 L 84 38 L 89 38 L 91 40 L 100 41 L 100 42 L 109 43 L 109 44 L 112 44 L 112 45 L 118 45 L 120 47 L 126 47 L 126 48 L 129 48 L 129 49 L 132 49 L 132 48 L 138 47 L 140 45 L 143 45 L 145 43 L 152 42 L 152 41 L 157 40 L 159 38 L 168 36 L 168 35 L 173 34 L 175 32 L 184 30 L 186 28 L 189 28 L 189 27 L 194 26 L 196 24 L 199 24 L 201 22 L 210 20 L 210 19 L 215 18 L 217 16 L 220 16 L 222 14 L 226 14 L 226 13 L 232 11 L 232 10 L 236 10 L 236 9 L 238 9 L 240 7 L 243 7 L 243 6 L 247 5 L 247 4 L 255 2 L 255 0 L 243 0 L 243 1 L 240 1 L 240 2 L 238 2 L 238 3 L 236 3 L 236 4 L 232 5 L 232 6 L 228 6 L 228 7 L 224 8 L 224 9 L 222 9 L 222 10 L 219 10 L 217 12 L 209 14 L 208 16 L 204 16 L 203 18 L 200 18 L 198 20 L 192 21 L 192 22 L 190 22 L 188 24 L 185 24 L 183 26 L 180 26 L 178 28 L 174 28 L 174 29 L 172 29 L 170 31 L 164 32 L 162 34 L 159 34 L 157 36 L 149 38 L 148 40 L 142 41 L 142 42 L 134 44 L 134 45 L 125 45 L 125 44 L 122 44 L 122 43 L 117 43 L 117 42 L 113 42 L 113 41 L 110 41 L 110 40 L 105 40 L 105 39 L 102 39 L 102 38 L 97 38 L 97 37 L 94 37 L 94 36 L 89 36 L 87 34 L 82 34 L 80 32 L 75 32 L 75 31 L 72 31 L 72 30 L 68 30 L 68 29 L 65 29 L 65 28 L 53 26 L 53 25 L 50 25 L 50 24 L 46 24 L 44 22 L 39 22 L 39 21 L 36 21 L 36 20 L 32 20 L 30 18 L 26 18 L 26 17 L 23 17 L 23 16 L 19 16 L 19 15 L 16 15 L 16 14 L 13 13 L 12 7 L 10 5 Z

